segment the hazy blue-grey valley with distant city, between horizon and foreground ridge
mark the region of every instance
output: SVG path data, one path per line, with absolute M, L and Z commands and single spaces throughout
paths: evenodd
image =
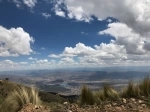
M 83 85 L 91 90 L 100 90 L 104 84 L 116 89 L 125 87 L 129 81 L 139 82 L 149 71 L 98 71 L 98 70 L 24 70 L 0 72 L 0 79 L 27 86 L 41 91 L 54 92 L 62 95 L 78 95 Z

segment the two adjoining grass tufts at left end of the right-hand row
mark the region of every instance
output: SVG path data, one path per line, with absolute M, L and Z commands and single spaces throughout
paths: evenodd
M 90 91 L 86 86 L 82 87 L 80 104 L 81 105 L 93 105 L 101 104 L 106 100 L 117 100 L 119 98 L 118 92 L 115 91 L 108 84 L 103 86 L 103 90 L 100 91 Z

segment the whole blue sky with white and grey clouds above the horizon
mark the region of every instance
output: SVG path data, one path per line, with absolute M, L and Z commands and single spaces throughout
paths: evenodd
M 149 0 L 0 0 L 0 70 L 149 66 Z

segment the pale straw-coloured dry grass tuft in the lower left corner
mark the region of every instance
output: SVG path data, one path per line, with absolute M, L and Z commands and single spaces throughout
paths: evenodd
M 1 105 L 0 110 L 1 112 L 17 112 L 24 104 L 29 103 L 35 105 L 39 105 L 41 103 L 38 91 L 33 88 L 18 86 L 8 95 Z

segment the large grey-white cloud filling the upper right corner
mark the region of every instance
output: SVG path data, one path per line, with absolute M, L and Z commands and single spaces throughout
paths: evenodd
M 113 17 L 142 35 L 150 33 L 149 0 L 57 0 L 56 5 L 70 19 L 87 22 L 93 16 L 100 20 Z

